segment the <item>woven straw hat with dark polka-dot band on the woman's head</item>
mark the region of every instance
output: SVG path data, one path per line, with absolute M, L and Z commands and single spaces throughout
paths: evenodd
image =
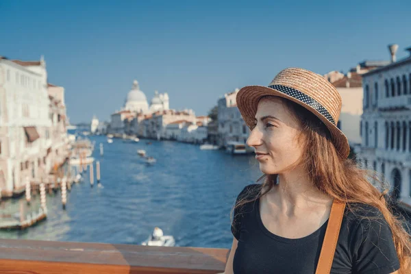
M 332 141 L 342 158 L 349 154 L 347 137 L 337 127 L 341 97 L 336 88 L 321 75 L 306 69 L 290 68 L 280 71 L 266 86 L 245 86 L 237 94 L 237 106 L 247 126 L 255 127 L 258 101 L 273 95 L 283 97 L 310 110 L 328 127 Z

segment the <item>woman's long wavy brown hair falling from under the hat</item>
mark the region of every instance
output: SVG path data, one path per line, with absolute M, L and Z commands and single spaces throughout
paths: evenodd
M 312 112 L 290 100 L 282 99 L 282 102 L 290 112 L 295 114 L 295 119 L 302 125 L 301 141 L 305 149 L 303 149 L 301 163 L 308 171 L 312 183 L 330 197 L 345 201 L 349 210 L 353 210 L 350 204 L 363 203 L 382 212 L 393 233 L 395 249 L 401 265 L 400 273 L 410 273 L 410 236 L 403 226 L 403 221 L 394 216 L 391 206 L 388 205 L 388 185 L 382 179 L 380 180 L 375 172 L 360 169 L 356 160 L 341 158 L 332 143 L 327 127 Z M 239 198 L 232 212 L 245 203 L 256 201 L 266 195 L 277 184 L 277 175 L 264 175 L 258 179 L 259 181 L 262 181 L 262 185 L 255 190 L 256 193 L 254 195 L 245 193 Z M 253 198 L 249 199 L 249 197 Z

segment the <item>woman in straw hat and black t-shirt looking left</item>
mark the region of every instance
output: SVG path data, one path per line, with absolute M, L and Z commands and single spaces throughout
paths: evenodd
M 226 274 L 411 273 L 410 240 L 387 195 L 347 159 L 332 84 L 285 69 L 269 87 L 242 88 L 237 105 L 264 182 L 238 195 Z

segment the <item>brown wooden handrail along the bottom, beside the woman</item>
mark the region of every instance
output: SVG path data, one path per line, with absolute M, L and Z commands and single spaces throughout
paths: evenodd
M 228 252 L 199 247 L 0 239 L 0 272 L 211 274 L 224 271 Z

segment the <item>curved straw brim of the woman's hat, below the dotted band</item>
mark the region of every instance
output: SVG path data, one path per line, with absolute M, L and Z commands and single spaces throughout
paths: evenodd
M 332 142 L 334 143 L 334 147 L 336 147 L 336 150 L 338 151 L 339 155 L 344 159 L 348 157 L 350 150 L 348 139 L 345 136 L 345 134 L 343 134 L 343 132 L 341 132 L 340 129 L 338 129 L 338 127 L 334 125 L 334 123 L 328 121 L 328 119 L 325 118 L 325 116 L 320 114 L 316 109 L 312 108 L 310 105 L 303 103 L 302 101 L 299 101 L 298 99 L 295 99 L 290 95 L 286 95 L 283 92 L 280 92 L 279 90 L 275 90 L 274 88 L 269 88 L 266 86 L 245 86 L 244 88 L 241 88 L 238 91 L 236 97 L 237 106 L 242 115 L 242 119 L 244 119 L 245 123 L 250 129 L 253 129 L 254 127 L 254 121 L 256 119 L 255 116 L 258 108 L 258 101 L 260 101 L 261 97 L 267 95 L 288 99 L 310 110 L 310 112 L 317 116 L 329 129 L 329 132 L 332 136 Z

